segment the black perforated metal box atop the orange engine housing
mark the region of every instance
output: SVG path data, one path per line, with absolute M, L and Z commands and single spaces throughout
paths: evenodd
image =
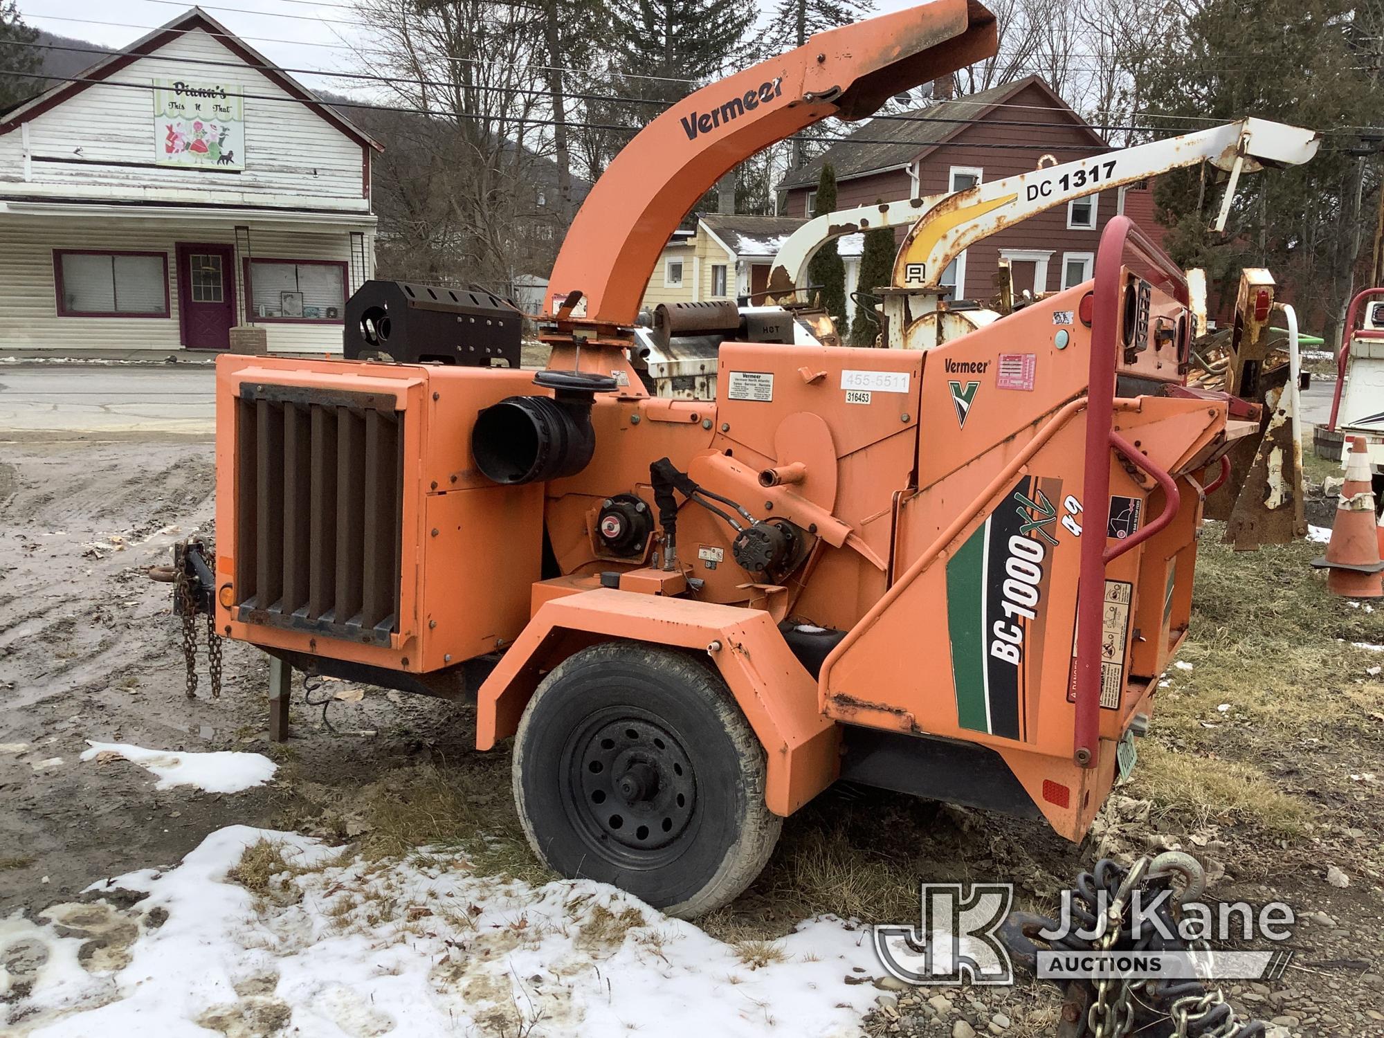
M 518 368 L 522 334 L 519 311 L 484 289 L 367 281 L 346 300 L 342 356 Z

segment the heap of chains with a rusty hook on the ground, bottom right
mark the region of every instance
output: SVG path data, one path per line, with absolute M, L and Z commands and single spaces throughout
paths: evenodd
M 1055 951 L 1210 951 L 1204 940 L 1187 943 L 1181 937 L 1168 940 L 1151 919 L 1140 918 L 1138 931 L 1127 912 L 1135 890 L 1165 889 L 1171 877 L 1181 875 L 1187 887 L 1182 897 L 1196 897 L 1203 889 L 1201 865 L 1181 851 L 1165 851 L 1157 857 L 1142 857 L 1129 868 L 1109 858 L 1099 861 L 1092 872 L 1082 872 L 1071 889 L 1073 933 L 1050 941 Z M 1158 916 L 1167 933 L 1176 934 L 1174 904 L 1167 898 L 1149 909 Z M 1057 923 L 1028 913 L 1012 913 L 1002 936 L 1019 962 L 1034 962 L 1038 951 L 1031 937 L 1038 930 L 1055 931 Z M 1075 931 L 1096 934 L 1086 940 Z M 1241 1020 L 1225 1001 L 1218 987 L 1207 987 L 1196 978 L 1114 978 L 1099 977 L 1089 981 L 1091 1005 L 1071 1034 L 1093 1038 L 1124 1038 L 1138 1027 L 1140 1035 L 1171 1035 L 1174 1038 L 1262 1038 L 1265 1024 Z M 1068 996 L 1070 996 L 1068 991 Z M 1163 1030 L 1157 1030 L 1158 1024 Z M 1154 1028 L 1154 1030 L 1150 1030 Z

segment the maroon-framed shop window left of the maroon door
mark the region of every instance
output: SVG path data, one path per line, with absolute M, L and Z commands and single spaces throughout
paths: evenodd
M 166 252 L 54 252 L 60 317 L 167 317 Z

